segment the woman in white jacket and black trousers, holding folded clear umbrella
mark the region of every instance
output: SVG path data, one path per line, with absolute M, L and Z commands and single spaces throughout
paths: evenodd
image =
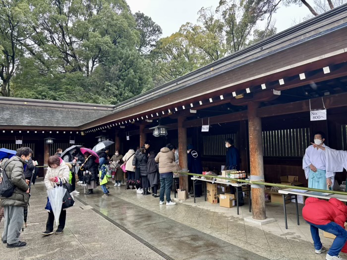
M 47 190 L 54 189 L 60 182 L 68 183 L 70 176 L 69 167 L 59 156 L 51 156 L 48 158 L 48 168 L 45 176 L 45 186 Z M 54 225 L 54 212 L 50 210 L 48 212 L 48 219 L 46 224 L 46 231 L 42 233 L 43 236 L 49 236 L 53 234 Z M 59 225 L 55 234 L 60 234 L 65 227 L 66 211 L 61 210 L 59 215 Z

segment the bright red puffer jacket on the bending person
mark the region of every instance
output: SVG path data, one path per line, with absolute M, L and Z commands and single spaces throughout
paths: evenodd
M 335 198 L 329 201 L 308 198 L 302 208 L 303 218 L 315 225 L 326 225 L 335 222 L 345 228 L 347 206 Z

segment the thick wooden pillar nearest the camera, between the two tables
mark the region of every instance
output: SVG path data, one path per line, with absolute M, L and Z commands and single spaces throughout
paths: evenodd
M 251 180 L 264 180 L 263 139 L 261 118 L 257 116 L 259 103 L 248 103 L 248 134 Z M 264 187 L 252 185 L 253 218 L 266 219 Z

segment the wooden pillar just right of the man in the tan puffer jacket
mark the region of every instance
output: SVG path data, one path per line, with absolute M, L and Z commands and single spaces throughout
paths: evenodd
M 183 171 L 188 170 L 188 155 L 187 155 L 187 129 L 183 127 L 185 117 L 178 117 L 178 157 L 179 167 Z M 188 175 L 179 175 L 179 188 L 185 190 L 186 197 L 188 196 Z

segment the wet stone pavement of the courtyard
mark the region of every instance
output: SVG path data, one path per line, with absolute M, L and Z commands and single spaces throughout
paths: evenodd
M 112 183 L 109 183 L 110 186 Z M 75 196 L 76 204 L 67 211 L 66 227 L 60 235 L 42 237 L 47 212 L 46 190 L 42 183 L 32 189 L 28 227 L 19 249 L 0 245 L 0 260 L 322 260 L 316 255 L 309 227 L 300 218 L 296 225 L 294 204 L 289 204 L 289 229 L 284 228 L 282 205 L 267 204 L 267 215 L 277 222 L 256 226 L 243 221 L 251 215 L 248 207 L 221 208 L 198 198 L 176 206 L 159 206 L 159 199 L 111 187 L 111 195 Z M 244 212 L 245 211 L 245 212 Z M 3 221 L 0 223 L 0 232 Z M 321 236 L 323 237 L 323 236 Z M 329 247 L 332 239 L 322 239 Z

